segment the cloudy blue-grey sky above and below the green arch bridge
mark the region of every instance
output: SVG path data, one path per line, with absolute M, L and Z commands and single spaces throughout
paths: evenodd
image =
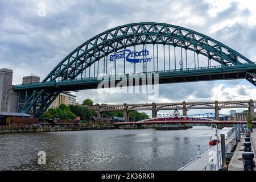
M 46 5 L 46 16 L 38 14 L 42 3 Z M 31 74 L 43 80 L 69 52 L 89 38 L 134 22 L 186 27 L 256 61 L 256 1 L 2 0 L 0 17 L 0 68 L 13 69 L 13 84 L 21 84 L 22 77 Z M 89 97 L 109 104 L 256 99 L 255 87 L 246 80 L 159 85 L 159 97 L 154 98 L 147 94 L 102 94 L 100 90 L 75 94 L 80 103 Z M 212 110 L 188 113 L 209 111 Z

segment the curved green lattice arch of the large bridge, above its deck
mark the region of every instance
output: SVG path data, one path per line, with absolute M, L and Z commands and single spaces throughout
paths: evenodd
M 254 64 L 232 48 L 188 28 L 164 23 L 133 23 L 102 32 L 69 53 L 43 81 L 73 80 L 102 57 L 120 49 L 164 44 L 189 49 L 221 65 Z

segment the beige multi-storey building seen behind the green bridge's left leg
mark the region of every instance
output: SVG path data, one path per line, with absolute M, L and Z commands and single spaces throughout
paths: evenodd
M 64 105 L 76 105 L 76 96 L 72 95 L 70 92 L 62 92 L 59 96 L 52 102 L 49 108 L 57 108 L 61 104 Z

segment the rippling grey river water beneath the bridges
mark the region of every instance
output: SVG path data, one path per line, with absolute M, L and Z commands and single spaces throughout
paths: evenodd
M 227 133 L 229 129 L 218 130 Z M 177 170 L 207 151 L 214 130 L 94 130 L 0 134 L 0 170 Z M 38 152 L 46 164 L 38 164 Z

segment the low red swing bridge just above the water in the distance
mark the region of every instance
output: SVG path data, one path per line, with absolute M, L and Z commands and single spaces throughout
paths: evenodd
M 115 122 L 115 126 L 121 125 L 155 125 L 155 124 L 203 124 L 203 125 L 236 125 L 236 124 L 246 124 L 247 121 L 217 121 L 208 118 L 198 118 L 198 117 L 162 117 L 162 118 L 151 118 L 144 119 L 137 122 Z M 256 124 L 255 121 L 252 124 Z

